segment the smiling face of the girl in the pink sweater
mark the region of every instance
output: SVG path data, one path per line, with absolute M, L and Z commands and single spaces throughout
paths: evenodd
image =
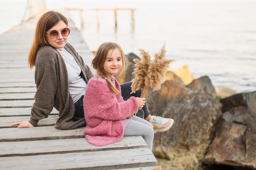
M 117 74 L 122 69 L 122 56 L 118 48 L 108 51 L 107 58 L 103 65 L 106 72 L 106 78 L 110 79 L 111 76 Z

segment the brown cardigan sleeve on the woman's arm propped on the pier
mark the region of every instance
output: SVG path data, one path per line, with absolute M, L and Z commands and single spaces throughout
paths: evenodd
M 56 68 L 52 47 L 45 46 L 43 52 L 38 51 L 36 57 L 35 103 L 31 108 L 29 123 L 36 126 L 40 119 L 47 118 L 54 107 L 54 96 L 57 88 Z

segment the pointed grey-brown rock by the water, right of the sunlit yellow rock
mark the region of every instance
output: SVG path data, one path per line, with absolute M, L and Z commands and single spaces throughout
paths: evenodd
M 189 85 L 187 85 L 187 87 L 197 92 L 211 94 L 214 98 L 217 97 L 215 88 L 213 87 L 211 80 L 208 76 L 203 76 L 193 80 Z

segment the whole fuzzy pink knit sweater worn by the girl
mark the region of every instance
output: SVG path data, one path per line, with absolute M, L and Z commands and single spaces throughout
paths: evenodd
M 116 79 L 115 85 L 120 91 Z M 114 95 L 110 91 L 106 80 L 97 79 L 95 76 L 88 82 L 83 103 L 86 121 L 85 138 L 89 143 L 96 146 L 119 141 L 124 136 L 121 120 L 138 110 L 135 97 L 130 97 L 128 101 L 124 101 L 121 93 Z

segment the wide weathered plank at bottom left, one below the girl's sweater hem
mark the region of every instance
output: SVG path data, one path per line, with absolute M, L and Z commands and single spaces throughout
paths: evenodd
M 47 154 L 26 157 L 0 157 L 0 162 L 0 168 L 4 170 L 61 170 L 83 168 L 106 170 L 157 166 L 156 159 L 148 148 Z

